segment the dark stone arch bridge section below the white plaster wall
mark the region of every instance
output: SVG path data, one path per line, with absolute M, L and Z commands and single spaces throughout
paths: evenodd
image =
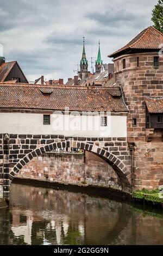
M 131 190 L 131 157 L 126 137 L 0 134 L 1 198 L 9 199 L 11 181 L 23 166 L 57 148 L 78 148 L 102 157 L 121 178 L 123 191 Z

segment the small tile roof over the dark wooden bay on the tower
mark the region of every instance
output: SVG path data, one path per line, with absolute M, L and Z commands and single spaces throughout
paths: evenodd
M 145 102 L 149 113 L 163 113 L 163 96 L 145 96 Z

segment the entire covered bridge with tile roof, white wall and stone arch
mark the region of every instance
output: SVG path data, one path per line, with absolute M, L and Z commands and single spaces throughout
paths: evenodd
M 120 177 L 122 191 L 130 191 L 128 109 L 121 88 L 2 83 L 0 93 L 0 198 L 8 198 L 10 182 L 34 157 L 65 148 L 101 157 Z M 98 176 L 110 182 L 102 170 Z

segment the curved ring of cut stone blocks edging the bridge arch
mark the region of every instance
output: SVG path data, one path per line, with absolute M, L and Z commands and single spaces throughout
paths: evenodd
M 29 161 L 31 161 L 34 157 L 37 157 L 44 153 L 51 152 L 57 148 L 61 149 L 70 147 L 90 151 L 91 153 L 94 153 L 101 157 L 108 164 L 110 164 L 110 166 L 115 170 L 116 174 L 123 180 L 123 184 L 125 184 L 123 186 L 128 187 L 130 190 L 130 171 L 127 169 L 124 163 L 120 159 L 118 159 L 118 157 L 116 157 L 114 154 L 111 154 L 110 151 L 107 151 L 103 148 L 99 148 L 97 145 L 70 140 L 64 142 L 53 142 L 51 144 L 43 145 L 42 147 L 34 149 L 32 152 L 28 153 L 26 156 L 23 157 L 23 159 L 21 159 L 15 164 L 14 168 L 12 168 L 9 174 L 10 182 L 15 178 L 19 170 L 21 170 L 23 166 L 26 166 L 26 164 Z

